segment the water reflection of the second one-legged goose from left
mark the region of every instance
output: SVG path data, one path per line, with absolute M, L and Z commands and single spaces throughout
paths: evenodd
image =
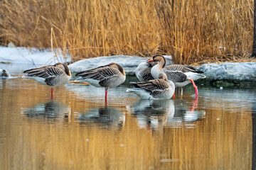
M 90 108 L 85 113 L 79 113 L 80 123 L 89 123 L 104 126 L 105 128 L 122 128 L 125 116 L 117 108 L 104 106 L 102 108 Z

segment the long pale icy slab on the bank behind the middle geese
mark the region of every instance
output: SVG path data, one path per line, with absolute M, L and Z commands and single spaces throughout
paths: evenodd
M 80 60 L 70 64 L 68 67 L 70 72 L 78 73 L 86 69 L 93 69 L 100 67 L 102 65 L 110 64 L 110 62 L 115 62 L 124 67 L 124 71 L 127 75 L 135 75 L 135 69 L 141 62 L 146 62 L 149 57 L 138 57 L 138 56 L 129 56 L 129 55 L 114 55 L 114 56 L 104 56 L 104 57 L 95 57 L 90 59 Z M 171 56 L 166 57 L 167 64 L 171 64 Z

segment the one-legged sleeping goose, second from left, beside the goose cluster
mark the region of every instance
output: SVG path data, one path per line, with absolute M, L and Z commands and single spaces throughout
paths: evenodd
M 125 81 L 124 68 L 117 63 L 110 63 L 95 69 L 87 69 L 75 74 L 79 79 L 75 81 L 87 81 L 95 87 L 105 87 L 105 104 L 107 105 L 107 90 L 119 86 Z

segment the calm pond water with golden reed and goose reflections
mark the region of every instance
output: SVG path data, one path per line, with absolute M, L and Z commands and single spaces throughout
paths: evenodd
M 16 75 L 21 72 L 16 72 Z M 141 101 L 127 85 L 0 79 L 0 169 L 254 169 L 255 84 Z M 255 148 L 255 149 L 253 149 Z

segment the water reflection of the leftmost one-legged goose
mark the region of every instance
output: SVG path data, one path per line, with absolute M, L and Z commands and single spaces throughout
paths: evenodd
M 48 119 L 63 119 L 70 115 L 70 108 L 62 103 L 50 101 L 48 103 L 38 103 L 33 108 L 23 108 L 21 114 L 28 117 L 48 118 Z

